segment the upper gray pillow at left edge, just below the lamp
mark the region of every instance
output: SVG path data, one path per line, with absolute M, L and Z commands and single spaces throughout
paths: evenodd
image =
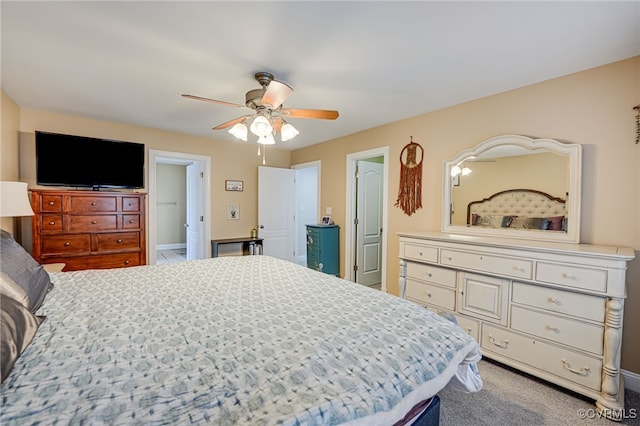
M 0 272 L 7 274 L 24 289 L 29 298 L 28 308 L 33 313 L 36 313 L 47 292 L 53 288 L 49 274 L 42 265 L 4 230 L 0 247 Z

